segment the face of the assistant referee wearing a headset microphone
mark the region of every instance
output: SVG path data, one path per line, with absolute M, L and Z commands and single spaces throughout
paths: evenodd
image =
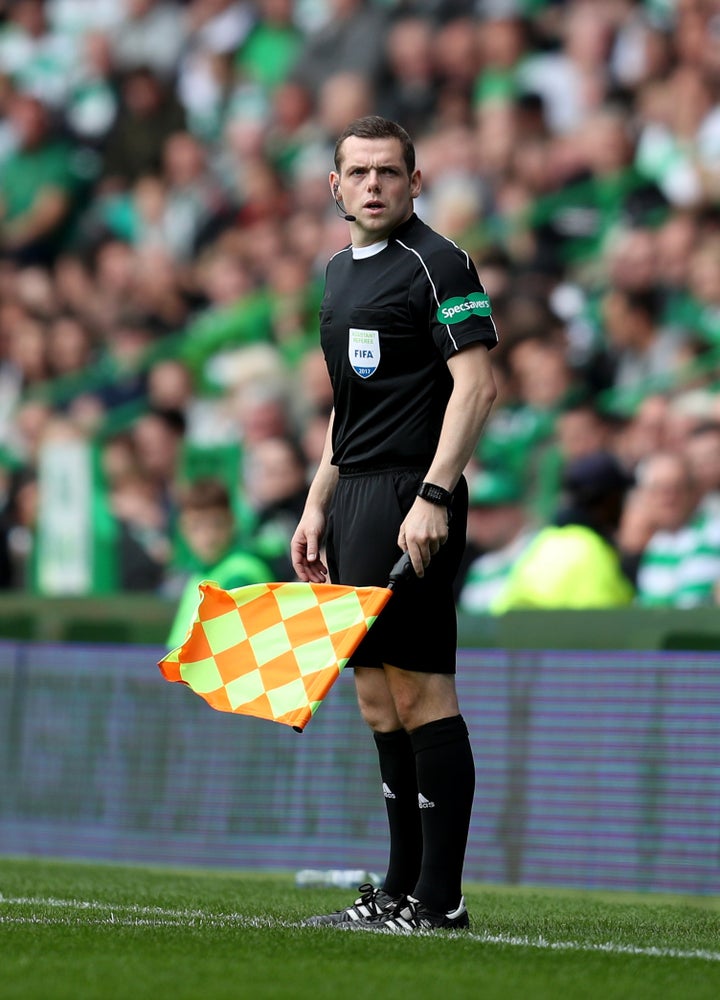
M 341 147 L 340 173 L 332 171 L 330 187 L 345 205 L 354 246 L 370 246 L 410 217 L 421 175 L 408 176 L 399 139 L 361 139 L 350 136 Z

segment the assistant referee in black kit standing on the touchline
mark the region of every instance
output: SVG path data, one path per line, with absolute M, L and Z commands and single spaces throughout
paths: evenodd
M 414 574 L 351 661 L 379 756 L 387 875 L 310 923 L 463 928 L 475 779 L 455 690 L 453 578 L 465 545 L 462 471 L 495 398 L 497 334 L 467 254 L 414 214 L 422 178 L 403 128 L 352 122 L 329 179 L 352 243 L 327 269 L 320 327 L 334 410 L 293 565 L 305 581 L 383 586 L 405 551 Z

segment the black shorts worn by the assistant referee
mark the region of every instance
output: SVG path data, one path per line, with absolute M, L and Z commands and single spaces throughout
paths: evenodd
M 341 470 L 328 518 L 326 555 L 333 583 L 385 587 L 402 555 L 398 532 L 423 480 L 420 469 L 346 474 Z M 349 666 L 384 663 L 454 674 L 457 617 L 453 580 L 465 549 L 467 483 L 453 494 L 450 533 L 422 579 L 401 580 Z

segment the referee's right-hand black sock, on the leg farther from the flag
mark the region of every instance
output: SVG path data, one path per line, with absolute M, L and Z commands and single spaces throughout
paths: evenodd
M 461 715 L 420 726 L 410 735 L 417 766 L 423 834 L 420 877 L 411 892 L 431 910 L 460 902 L 475 765 Z

